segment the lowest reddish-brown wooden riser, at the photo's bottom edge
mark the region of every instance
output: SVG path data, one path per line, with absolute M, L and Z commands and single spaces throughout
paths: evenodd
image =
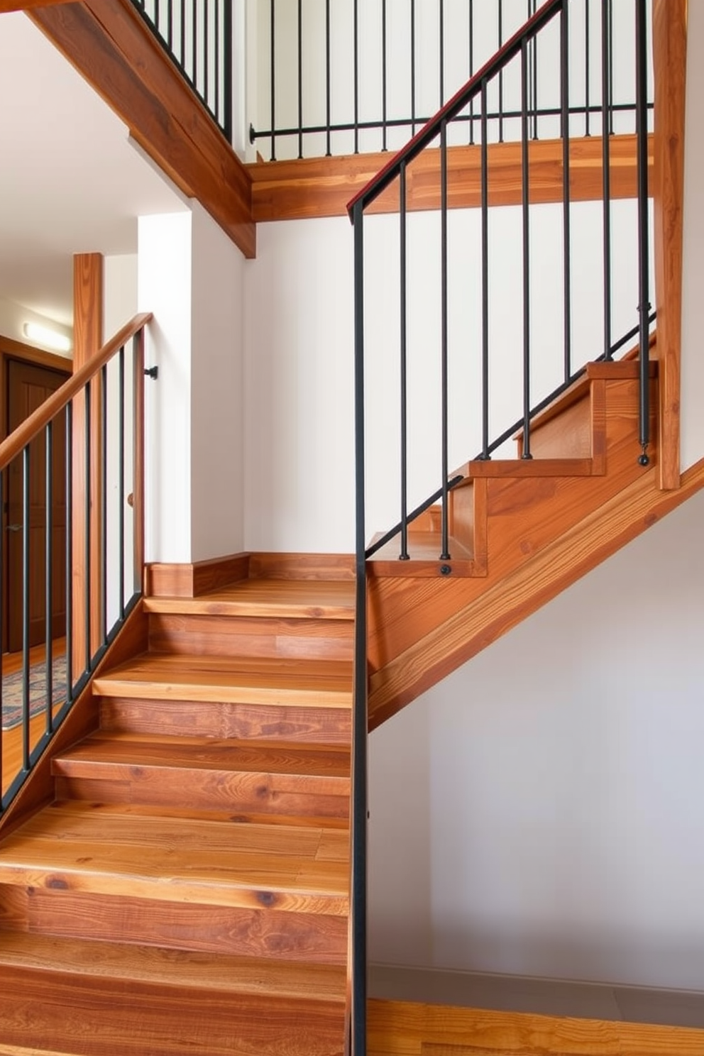
M 0 967 L 0 1037 L 76 1056 L 340 1056 L 341 1002 Z M 243 1039 L 246 1039 L 243 1040 Z

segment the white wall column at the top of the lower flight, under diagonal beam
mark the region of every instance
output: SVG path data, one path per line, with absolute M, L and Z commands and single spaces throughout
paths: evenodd
M 138 304 L 152 312 L 146 382 L 147 561 L 236 553 L 243 530 L 244 259 L 195 202 L 139 218 Z

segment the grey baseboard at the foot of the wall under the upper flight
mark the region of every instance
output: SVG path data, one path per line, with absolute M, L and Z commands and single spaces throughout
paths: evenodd
M 369 996 L 547 1016 L 704 1027 L 704 994 L 372 965 Z

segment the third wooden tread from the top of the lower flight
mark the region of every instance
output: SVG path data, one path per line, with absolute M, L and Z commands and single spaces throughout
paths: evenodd
M 159 767 L 250 773 L 349 777 L 349 749 L 275 741 L 229 741 L 212 737 L 154 737 L 148 734 L 91 735 L 53 760 L 53 772 L 95 767 Z

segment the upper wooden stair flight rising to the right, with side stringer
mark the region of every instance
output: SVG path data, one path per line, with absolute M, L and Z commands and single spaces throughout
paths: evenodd
M 534 419 L 531 459 L 520 457 L 518 434 L 517 458 L 457 471 L 452 560 L 439 560 L 439 510 L 431 508 L 410 531 L 410 561 L 398 560 L 398 540 L 369 561 L 372 728 L 657 520 L 658 365 L 647 467 L 639 464 L 638 360 L 590 363 Z

